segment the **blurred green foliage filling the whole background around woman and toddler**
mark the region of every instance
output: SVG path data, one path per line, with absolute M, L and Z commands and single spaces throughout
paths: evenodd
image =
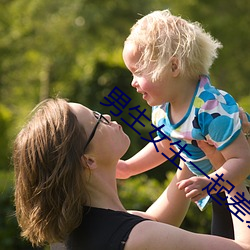
M 201 22 L 223 43 L 224 48 L 211 69 L 212 81 L 218 88 L 232 94 L 250 112 L 248 0 L 228 0 L 226 3 L 216 0 L 2 0 L 0 169 L 6 170 L 10 165 L 11 140 L 20 124 L 37 102 L 49 96 L 59 94 L 92 109 L 110 113 L 110 108 L 100 102 L 104 102 L 104 97 L 117 86 L 131 97 L 129 107 L 140 105 L 150 117 L 150 107 L 130 87 L 131 76 L 125 69 L 121 53 L 123 42 L 136 19 L 150 11 L 165 8 Z M 131 121 L 128 114 L 123 114 L 123 118 Z M 122 124 L 120 117 L 113 116 L 113 119 Z M 122 125 L 131 138 L 127 158 L 142 148 L 145 141 L 127 125 Z M 150 123 L 145 125 L 144 128 L 136 127 L 144 137 L 150 130 Z M 168 170 L 174 170 L 173 164 L 164 165 Z M 5 178 L 5 175 L 0 175 L 0 185 Z M 120 182 L 120 195 L 126 207 L 144 209 L 149 206 L 166 185 L 165 178 L 165 167 L 158 167 L 146 175 Z M 2 230 L 1 234 L 6 233 L 3 242 L 12 243 L 4 243 L 0 248 L 23 249 L 22 243 L 14 247 L 17 236 L 10 232 L 17 233 L 17 227 L 9 217 L 14 211 L 12 191 L 7 188 L 9 184 L 4 185 L 0 204 L 4 215 L 1 214 L 0 228 L 11 228 Z M 201 213 L 192 204 L 183 227 L 209 232 L 210 219 L 210 208 Z M 2 240 L 0 242 L 2 244 Z

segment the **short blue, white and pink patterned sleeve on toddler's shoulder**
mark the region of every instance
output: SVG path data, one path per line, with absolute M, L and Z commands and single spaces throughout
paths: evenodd
M 198 122 L 206 140 L 218 150 L 230 145 L 241 131 L 238 105 L 222 90 L 204 101 L 198 112 Z

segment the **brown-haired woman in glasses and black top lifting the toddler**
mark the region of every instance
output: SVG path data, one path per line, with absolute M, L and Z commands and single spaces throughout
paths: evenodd
M 63 99 L 42 102 L 14 143 L 16 215 L 23 237 L 33 245 L 65 242 L 67 249 L 250 249 L 249 229 L 235 216 L 235 240 L 172 226 L 180 224 L 189 204 L 183 199 L 183 207 L 175 207 L 176 192 L 183 192 L 176 184 L 188 176 L 184 171 L 146 213 L 138 212 L 144 218 L 128 213 L 115 176 L 129 144 L 108 115 Z M 246 189 L 236 187 L 228 197 L 236 191 Z M 250 215 L 244 219 L 250 221 Z

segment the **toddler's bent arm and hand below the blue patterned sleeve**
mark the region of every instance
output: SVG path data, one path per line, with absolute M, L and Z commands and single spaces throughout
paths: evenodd
M 211 148 L 207 149 L 208 152 L 211 152 L 209 151 L 211 150 Z M 205 153 L 207 152 L 205 151 Z M 233 185 L 237 186 L 247 178 L 247 176 L 250 174 L 250 148 L 243 133 L 241 133 L 231 145 L 222 150 L 221 155 L 224 157 L 225 162 L 218 170 L 209 175 L 210 179 L 206 177 L 191 177 L 188 180 L 184 180 L 178 183 L 178 187 L 180 189 L 184 189 L 186 197 L 191 198 L 193 201 L 197 201 L 206 196 L 206 189 L 203 191 L 202 189 L 211 182 L 211 178 L 217 180 L 218 176 L 220 176 L 221 174 L 223 174 L 222 178 L 225 181 L 220 184 L 228 189 L 231 189 L 232 186 L 226 181 L 229 181 Z M 219 161 L 222 162 L 223 160 L 221 158 L 221 155 L 219 154 L 219 152 L 217 156 L 215 154 L 213 157 L 213 161 L 216 162 L 216 157 L 219 157 Z M 216 176 L 216 174 L 218 176 Z M 218 189 L 219 186 L 217 186 L 217 190 Z M 211 192 L 211 194 L 213 193 L 216 193 L 216 190 Z

